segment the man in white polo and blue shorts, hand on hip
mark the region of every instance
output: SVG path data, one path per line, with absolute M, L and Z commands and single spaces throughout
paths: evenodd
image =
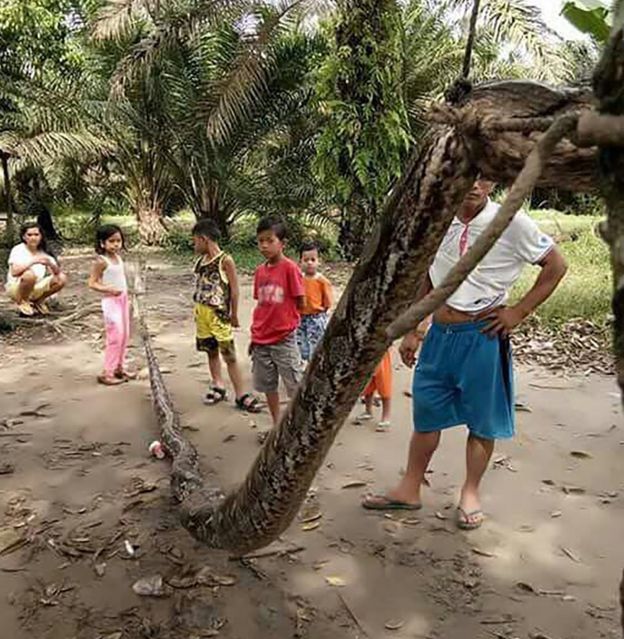
M 420 291 L 439 285 L 449 270 L 492 221 L 499 206 L 489 199 L 494 185 L 478 180 L 466 196 L 438 249 Z M 541 267 L 530 291 L 506 306 L 509 290 L 526 264 Z M 368 497 L 373 510 L 418 509 L 425 472 L 441 431 L 465 424 L 466 480 L 457 507 L 457 524 L 465 530 L 483 523 L 479 485 L 497 439 L 514 434 L 513 370 L 509 333 L 553 293 L 566 272 L 553 240 L 535 222 L 518 213 L 502 237 L 459 289 L 427 322 L 407 335 L 401 357 L 413 366 L 414 433 L 407 471 L 385 495 Z

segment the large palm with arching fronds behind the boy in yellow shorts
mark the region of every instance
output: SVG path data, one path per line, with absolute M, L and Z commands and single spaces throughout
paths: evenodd
M 321 40 L 296 29 L 303 4 L 114 0 L 95 24 L 98 38 L 126 42 L 112 107 L 136 104 L 137 86 L 149 96 L 165 138 L 148 144 L 159 175 L 168 174 L 196 216 L 215 219 L 226 237 L 258 205 L 250 198 L 262 190 L 250 172 L 255 151 L 307 99 L 304 80 Z M 150 219 L 160 219 L 157 207 Z

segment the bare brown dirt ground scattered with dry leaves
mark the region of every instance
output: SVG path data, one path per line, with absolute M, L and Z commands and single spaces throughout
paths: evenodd
M 71 306 L 87 295 L 86 263 L 67 263 Z M 207 369 L 194 351 L 190 290 L 184 269 L 155 264 L 150 325 L 182 423 L 215 482 L 233 487 L 269 419 L 202 405 Z M 251 302 L 246 282 L 244 326 Z M 156 427 L 145 378 L 95 384 L 99 315 L 20 335 L 0 336 L 3 637 L 619 636 L 624 431 L 612 378 L 517 371 L 531 412 L 518 413 L 517 437 L 495 453 L 487 523 L 462 533 L 453 524 L 462 429 L 443 438 L 423 511 L 384 516 L 359 505 L 405 463 L 411 374 L 395 354 L 391 432 L 346 424 L 300 518 L 258 553 L 267 554 L 240 561 L 178 525 L 168 464 L 147 451 Z M 248 339 L 237 334 L 241 354 Z M 141 368 L 136 338 L 132 355 Z M 133 591 L 159 577 L 162 596 Z

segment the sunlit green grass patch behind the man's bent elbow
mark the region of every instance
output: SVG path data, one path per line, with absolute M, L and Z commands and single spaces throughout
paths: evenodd
M 594 231 L 599 219 L 557 211 L 533 211 L 530 215 L 556 238 L 568 262 L 565 279 L 537 310 L 537 318 L 552 327 L 578 318 L 604 326 L 611 313 L 612 277 L 608 247 Z M 538 267 L 524 270 L 512 291 L 512 302 L 529 290 L 538 272 Z

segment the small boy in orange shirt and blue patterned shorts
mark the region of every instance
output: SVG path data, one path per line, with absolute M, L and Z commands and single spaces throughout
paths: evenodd
M 333 296 L 329 280 L 318 272 L 318 246 L 313 242 L 306 242 L 302 245 L 299 255 L 305 304 L 301 310 L 301 324 L 297 329 L 297 346 L 301 358 L 309 362 L 325 333 L 329 321 L 327 311 L 331 308 Z

